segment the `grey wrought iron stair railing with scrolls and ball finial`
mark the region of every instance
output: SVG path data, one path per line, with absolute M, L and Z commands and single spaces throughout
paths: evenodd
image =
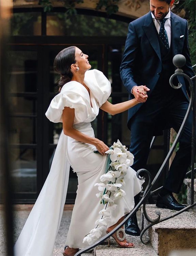
M 167 156 L 165 158 L 165 160 L 163 161 L 159 171 L 157 172 L 157 174 L 155 175 L 153 181 L 152 181 L 152 178 L 151 178 L 151 174 L 148 170 L 146 169 L 140 169 L 137 171 L 137 177 L 140 179 L 140 180 L 144 180 L 143 177 L 140 177 L 141 176 L 141 173 L 142 172 L 145 172 L 147 175 L 148 175 L 148 185 L 146 186 L 146 189 L 144 191 L 144 194 L 141 198 L 141 200 L 139 201 L 139 203 L 137 205 L 135 205 L 134 209 L 129 213 L 129 215 L 127 215 L 124 220 L 118 225 L 116 226 L 111 232 L 109 232 L 108 234 L 106 234 L 104 237 L 102 237 L 100 240 L 96 241 L 94 244 L 92 245 L 89 245 L 88 247 L 85 247 L 83 248 L 82 250 L 79 250 L 74 256 L 79 256 L 81 255 L 82 253 L 85 253 L 89 250 L 94 250 L 94 255 L 96 256 L 96 249 L 95 247 L 97 245 L 100 245 L 103 243 L 103 241 L 105 241 L 107 238 L 109 238 L 112 234 L 114 234 L 119 228 L 121 228 L 127 221 L 128 219 L 133 216 L 137 210 L 140 208 L 140 206 L 143 204 L 143 212 L 144 212 L 144 216 L 145 218 L 147 219 L 148 222 L 150 222 L 150 224 L 145 227 L 142 231 L 141 231 L 141 234 L 140 234 L 140 240 L 142 243 L 144 244 L 148 244 L 150 242 L 150 239 L 147 237 L 146 238 L 146 241 L 143 240 L 143 236 L 144 236 L 144 233 L 150 228 L 152 227 L 153 225 L 157 224 L 157 223 L 160 223 L 160 222 L 163 222 L 163 221 L 166 221 L 167 219 L 170 219 L 170 218 L 173 218 L 179 214 L 181 214 L 182 212 L 184 211 L 187 211 L 189 210 L 190 208 L 194 207 L 196 205 L 196 202 L 194 202 L 194 175 L 195 175 L 195 170 L 194 169 L 194 161 L 195 161 L 195 120 L 196 120 L 196 88 L 194 86 L 194 83 L 192 81 L 195 81 L 196 80 L 196 76 L 193 76 L 192 78 L 190 78 L 188 75 L 184 74 L 183 73 L 183 70 L 181 69 L 181 67 L 183 67 L 185 65 L 185 62 L 186 62 L 186 59 L 183 55 L 176 55 L 174 56 L 173 58 L 173 63 L 174 65 L 177 67 L 175 73 L 170 77 L 170 80 L 169 80 L 169 83 L 171 85 L 172 88 L 174 89 L 179 89 L 181 88 L 182 84 L 181 83 L 178 83 L 178 86 L 175 86 L 173 84 L 173 79 L 174 77 L 176 76 L 183 76 L 188 82 L 189 82 L 189 86 L 190 86 L 190 92 L 191 92 L 191 96 L 190 96 L 190 102 L 189 102 L 189 106 L 188 106 L 188 109 L 187 109 L 187 112 L 185 114 L 185 117 L 184 117 L 184 120 L 182 122 L 182 125 L 179 129 L 179 132 L 177 133 L 177 136 L 175 138 L 175 141 L 174 143 L 172 144 L 170 150 L 168 151 L 167 153 Z M 196 66 L 196 65 L 194 65 Z M 194 67 L 193 66 L 193 67 Z M 170 215 L 170 216 L 167 216 L 167 217 L 164 217 L 164 218 L 161 218 L 161 212 L 159 210 L 156 210 L 155 213 L 157 214 L 157 218 L 155 219 L 151 219 L 149 216 L 148 216 L 148 213 L 146 211 L 146 203 L 147 203 L 147 200 L 150 196 L 152 196 L 152 194 L 154 194 L 155 192 L 159 191 L 162 187 L 159 187 L 155 190 L 153 190 L 154 188 L 154 185 L 156 184 L 156 182 L 159 180 L 159 178 L 161 177 L 162 173 L 164 172 L 164 169 L 165 167 L 167 167 L 168 169 L 168 166 L 169 166 L 169 159 L 172 155 L 172 153 L 174 152 L 176 146 L 177 146 L 177 143 L 179 142 L 179 139 L 180 139 L 180 136 L 182 134 L 182 131 L 183 131 L 183 128 L 184 128 L 184 125 L 185 125 L 185 122 L 187 120 L 187 117 L 189 116 L 191 110 L 193 109 L 193 129 L 192 129 L 192 160 L 191 160 L 191 171 L 187 172 L 187 174 L 190 174 L 191 173 L 191 204 L 188 205 L 187 207 L 185 207 L 184 209 Z M 170 138 L 170 130 L 168 131 L 168 138 Z M 151 147 L 153 145 L 153 142 L 154 142 L 154 137 L 152 139 L 152 142 L 151 142 Z

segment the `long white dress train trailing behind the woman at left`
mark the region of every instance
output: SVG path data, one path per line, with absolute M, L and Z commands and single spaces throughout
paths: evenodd
M 69 182 L 65 145 L 67 136 L 62 131 L 48 177 L 14 246 L 16 256 L 53 255 Z

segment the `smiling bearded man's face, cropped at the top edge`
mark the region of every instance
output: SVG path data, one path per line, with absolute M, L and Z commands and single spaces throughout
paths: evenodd
M 153 13 L 155 19 L 163 19 L 169 12 L 169 7 L 174 4 L 171 0 L 170 4 L 166 1 L 150 0 L 150 11 Z

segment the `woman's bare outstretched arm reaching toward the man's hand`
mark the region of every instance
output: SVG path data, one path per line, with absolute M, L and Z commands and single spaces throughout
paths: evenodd
M 148 96 L 146 96 L 148 97 Z M 124 112 L 125 110 L 128 110 L 132 108 L 133 106 L 137 105 L 138 102 L 136 99 L 132 100 L 127 100 L 118 104 L 111 104 L 109 101 L 106 101 L 100 109 L 104 110 L 105 112 L 111 114 L 111 115 L 116 115 L 121 112 Z

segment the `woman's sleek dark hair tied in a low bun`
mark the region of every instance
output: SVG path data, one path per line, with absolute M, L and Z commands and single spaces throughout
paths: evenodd
M 75 59 L 75 46 L 64 48 L 57 54 L 54 60 L 54 69 L 60 74 L 60 80 L 58 83 L 59 92 L 64 84 L 71 81 L 73 73 L 71 72 L 71 65 L 76 63 Z

